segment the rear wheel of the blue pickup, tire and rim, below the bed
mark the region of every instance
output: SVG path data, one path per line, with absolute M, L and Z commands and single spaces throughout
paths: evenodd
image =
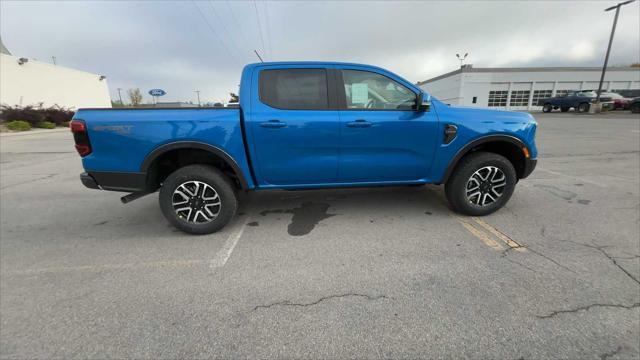
M 173 172 L 162 184 L 159 200 L 164 217 L 190 234 L 222 229 L 238 208 L 229 178 L 207 165 L 188 165 Z

